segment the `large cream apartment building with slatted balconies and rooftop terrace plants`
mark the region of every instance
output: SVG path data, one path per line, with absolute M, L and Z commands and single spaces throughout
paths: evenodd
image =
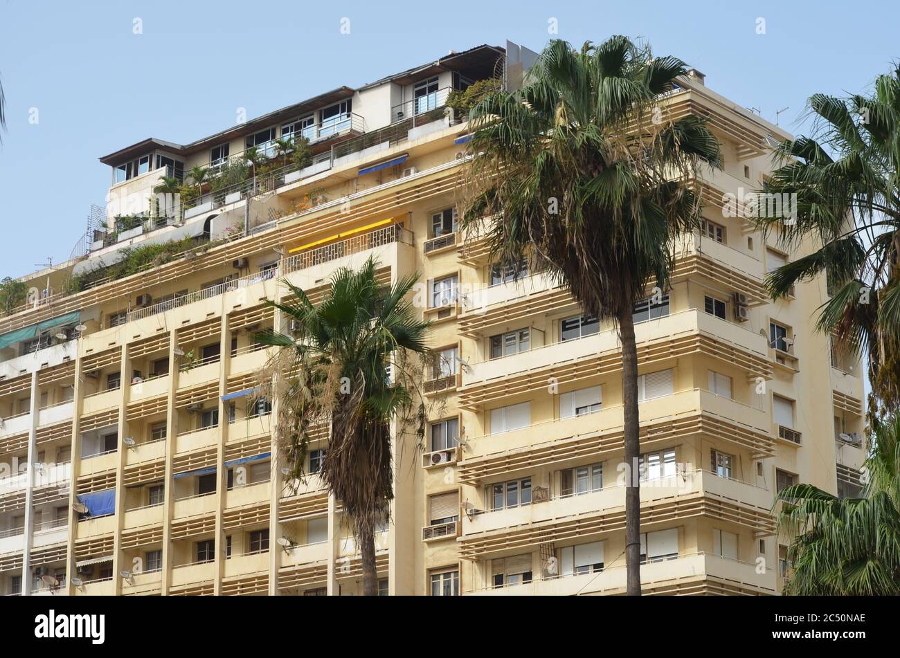
M 315 300 L 370 255 L 385 282 L 420 273 L 440 353 L 425 444 L 395 432 L 380 591 L 625 591 L 616 332 L 457 227 L 469 129 L 447 96 L 508 77 L 509 47 L 101 158 L 109 212 L 71 261 L 23 277 L 27 303 L 0 318 L 0 593 L 359 593 L 352 533 L 315 475 L 328 430 L 310 476 L 285 481 L 277 401 L 257 388 L 269 351 L 253 335 L 290 331 L 265 304 L 288 298 L 284 280 Z M 775 594 L 779 488 L 860 486 L 860 364 L 814 331 L 824 280 L 767 297 L 765 272 L 796 254 L 727 208 L 788 136 L 698 72 L 660 103 L 707 117 L 725 157 L 695 182 L 705 221 L 682 236 L 671 289 L 635 307 L 644 591 Z M 247 149 L 275 162 L 277 140 L 298 133 L 302 168 L 285 160 L 190 200 L 154 192 L 196 165 L 214 181 Z M 116 273 L 139 246 L 176 240 L 181 252 Z

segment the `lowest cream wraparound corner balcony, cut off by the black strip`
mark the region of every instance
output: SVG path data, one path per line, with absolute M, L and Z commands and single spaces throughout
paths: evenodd
M 695 553 L 641 565 L 641 588 L 644 594 L 775 594 L 775 576 L 771 569 L 758 574 L 752 563 Z M 625 591 L 626 568 L 617 565 L 599 574 L 555 576 L 464 593 L 469 596 L 574 596 Z

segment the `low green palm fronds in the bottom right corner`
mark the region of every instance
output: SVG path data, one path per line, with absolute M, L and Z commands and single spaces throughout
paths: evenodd
M 900 414 L 872 433 L 860 498 L 839 499 L 813 485 L 778 494 L 779 532 L 791 538 L 788 594 L 900 594 Z

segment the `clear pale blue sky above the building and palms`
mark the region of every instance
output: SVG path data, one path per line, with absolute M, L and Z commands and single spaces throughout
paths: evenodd
M 879 7 L 880 5 L 880 7 Z M 342 18 L 350 33 L 342 34 Z M 141 19 L 142 34 L 132 31 Z M 757 34 L 757 20 L 765 34 Z M 67 259 L 110 182 L 97 157 L 178 143 L 340 84 L 482 43 L 532 49 L 621 33 L 676 55 L 707 84 L 798 131 L 814 92 L 866 88 L 900 56 L 895 2 L 40 2 L 0 0 L 0 277 Z M 892 48 L 893 47 L 893 48 Z M 29 121 L 31 108 L 38 122 Z

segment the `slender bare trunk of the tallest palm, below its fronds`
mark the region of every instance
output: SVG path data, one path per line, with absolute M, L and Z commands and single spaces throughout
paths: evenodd
M 631 306 L 619 314 L 622 339 L 622 403 L 625 413 L 625 538 L 626 594 L 641 595 L 641 496 L 638 456 L 641 451 L 637 412 L 637 346 Z

